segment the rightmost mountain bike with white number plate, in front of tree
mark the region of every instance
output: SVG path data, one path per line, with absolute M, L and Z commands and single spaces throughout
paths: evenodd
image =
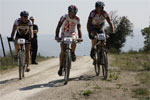
M 95 73 L 98 76 L 100 74 L 100 66 L 102 66 L 102 72 L 104 79 L 107 79 L 108 75 L 108 59 L 107 59 L 107 50 L 106 50 L 106 35 L 105 33 L 100 33 L 95 36 L 96 38 L 96 52 L 94 57 L 94 68 Z

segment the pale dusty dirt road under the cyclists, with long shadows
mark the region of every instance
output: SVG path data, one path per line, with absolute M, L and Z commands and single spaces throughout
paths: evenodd
M 57 75 L 58 65 L 58 58 L 31 65 L 22 80 L 17 68 L 0 74 L 0 100 L 136 100 L 130 91 L 138 84 L 135 73 L 110 67 L 119 79 L 106 81 L 102 75 L 95 76 L 91 58 L 83 56 L 72 63 L 70 81 L 64 85 Z

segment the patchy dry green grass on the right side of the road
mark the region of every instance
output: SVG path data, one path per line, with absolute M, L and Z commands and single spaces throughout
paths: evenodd
M 135 79 L 140 84 L 132 89 L 132 98 L 139 100 L 150 100 L 150 53 L 128 52 L 122 54 L 110 54 L 113 58 L 110 66 L 119 67 L 121 71 L 137 72 Z M 114 72 L 110 72 L 109 78 L 113 80 Z M 120 89 L 121 85 L 117 85 L 116 89 Z M 128 91 L 127 88 L 122 90 Z

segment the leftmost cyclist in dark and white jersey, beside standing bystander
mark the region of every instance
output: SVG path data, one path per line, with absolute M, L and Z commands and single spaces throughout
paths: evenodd
M 14 38 L 14 35 L 16 33 L 15 40 L 17 41 L 18 38 L 24 38 L 27 41 L 30 41 L 31 38 L 33 38 L 33 28 L 30 20 L 28 19 L 29 13 L 27 11 L 21 11 L 20 18 L 16 19 L 13 25 L 12 33 L 11 33 L 11 39 Z M 16 32 L 17 31 L 17 32 Z M 18 54 L 18 44 L 15 42 L 15 49 L 16 53 Z M 30 44 L 25 45 L 26 49 L 26 63 L 27 68 L 26 72 L 29 72 L 29 61 L 30 61 Z

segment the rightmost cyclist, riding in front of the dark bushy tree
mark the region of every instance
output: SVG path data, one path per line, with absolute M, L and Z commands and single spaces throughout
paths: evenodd
M 89 38 L 91 39 L 92 42 L 90 52 L 90 56 L 92 59 L 95 56 L 95 49 L 94 49 L 94 46 L 96 44 L 95 35 L 97 33 L 99 34 L 104 33 L 105 20 L 110 25 L 111 31 L 114 32 L 114 26 L 112 24 L 112 21 L 110 20 L 108 13 L 104 10 L 104 6 L 105 6 L 104 2 L 97 1 L 95 3 L 95 9 L 90 12 L 90 15 L 88 17 L 87 31 Z

